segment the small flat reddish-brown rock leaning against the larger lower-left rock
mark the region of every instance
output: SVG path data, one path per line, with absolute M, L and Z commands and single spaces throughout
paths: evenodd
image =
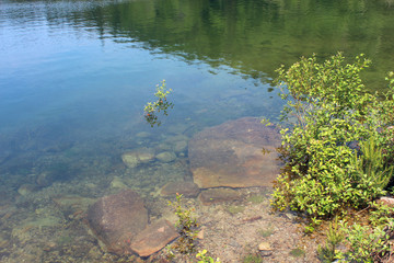
M 130 244 L 130 250 L 140 256 L 148 256 L 164 248 L 177 236 L 175 227 L 170 221 L 161 219 L 137 235 Z

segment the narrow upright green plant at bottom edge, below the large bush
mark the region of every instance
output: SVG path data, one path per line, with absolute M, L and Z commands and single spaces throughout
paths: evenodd
M 329 224 L 326 236 L 327 241 L 324 247 L 318 245 L 317 255 L 322 262 L 331 263 L 340 258 L 336 249 L 345 238 L 343 230 L 339 228 L 337 217 L 335 218 L 334 222 Z

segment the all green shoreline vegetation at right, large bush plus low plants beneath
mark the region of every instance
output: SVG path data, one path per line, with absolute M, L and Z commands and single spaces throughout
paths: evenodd
M 386 93 L 370 94 L 359 73 L 371 61 L 345 61 L 313 55 L 277 70 L 287 126 L 271 204 L 306 216 L 305 233 L 331 221 L 322 262 L 387 262 L 394 208 L 376 199 L 394 193 L 394 73 Z

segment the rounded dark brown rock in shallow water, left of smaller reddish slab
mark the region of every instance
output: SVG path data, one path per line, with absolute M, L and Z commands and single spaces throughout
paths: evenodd
M 108 251 L 123 254 L 130 240 L 148 225 L 148 210 L 139 195 L 123 191 L 100 198 L 88 210 L 89 226 Z

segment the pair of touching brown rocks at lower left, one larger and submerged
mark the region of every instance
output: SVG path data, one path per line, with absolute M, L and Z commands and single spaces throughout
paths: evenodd
M 90 206 L 89 226 L 107 250 L 148 256 L 177 238 L 175 227 L 161 219 L 148 224 L 148 210 L 132 190 L 104 196 Z

